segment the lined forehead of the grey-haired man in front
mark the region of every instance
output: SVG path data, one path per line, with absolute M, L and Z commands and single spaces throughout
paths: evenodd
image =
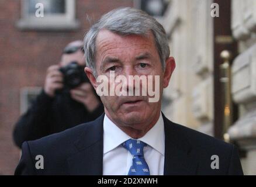
M 158 51 L 153 33 L 146 36 L 130 34 L 122 36 L 109 30 L 101 30 L 96 38 L 96 63 L 102 67 L 108 62 L 155 58 Z

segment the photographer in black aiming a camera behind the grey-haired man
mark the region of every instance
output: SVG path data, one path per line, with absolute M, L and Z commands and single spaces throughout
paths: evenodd
M 89 122 L 103 113 L 101 100 L 85 75 L 82 41 L 68 44 L 58 65 L 46 72 L 43 91 L 13 130 L 18 147 L 35 140 Z

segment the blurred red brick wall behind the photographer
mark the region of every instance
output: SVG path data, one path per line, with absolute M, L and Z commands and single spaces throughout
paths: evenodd
M 75 32 L 22 32 L 15 27 L 20 1 L 0 1 L 0 175 L 12 175 L 19 161 L 12 130 L 20 113 L 20 88 L 43 85 L 47 67 L 58 63 L 63 47 L 84 36 L 87 14 L 96 20 L 119 6 L 133 6 L 133 1 L 77 0 L 81 27 Z

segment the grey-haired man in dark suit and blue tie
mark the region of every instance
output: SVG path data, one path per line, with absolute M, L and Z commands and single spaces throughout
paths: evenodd
M 149 80 L 153 75 L 158 78 L 147 86 L 159 83 L 160 99 L 150 102 L 150 89 L 147 95 L 130 95 L 138 88 L 136 81 L 122 82 L 122 91 L 129 95 L 103 94 L 105 113 L 94 122 L 23 143 L 15 174 L 243 174 L 233 145 L 172 123 L 161 113 L 162 91 L 169 84 L 175 61 L 169 57 L 165 31 L 154 18 L 133 8 L 115 9 L 91 27 L 84 42 L 85 72 L 97 93 L 102 84 L 109 91 L 115 85 L 118 93 L 120 87 L 111 81 L 111 72 L 123 79 L 144 75 Z M 107 77 L 108 82 L 102 83 L 99 77 Z M 43 169 L 34 167 L 36 155 L 43 156 Z

